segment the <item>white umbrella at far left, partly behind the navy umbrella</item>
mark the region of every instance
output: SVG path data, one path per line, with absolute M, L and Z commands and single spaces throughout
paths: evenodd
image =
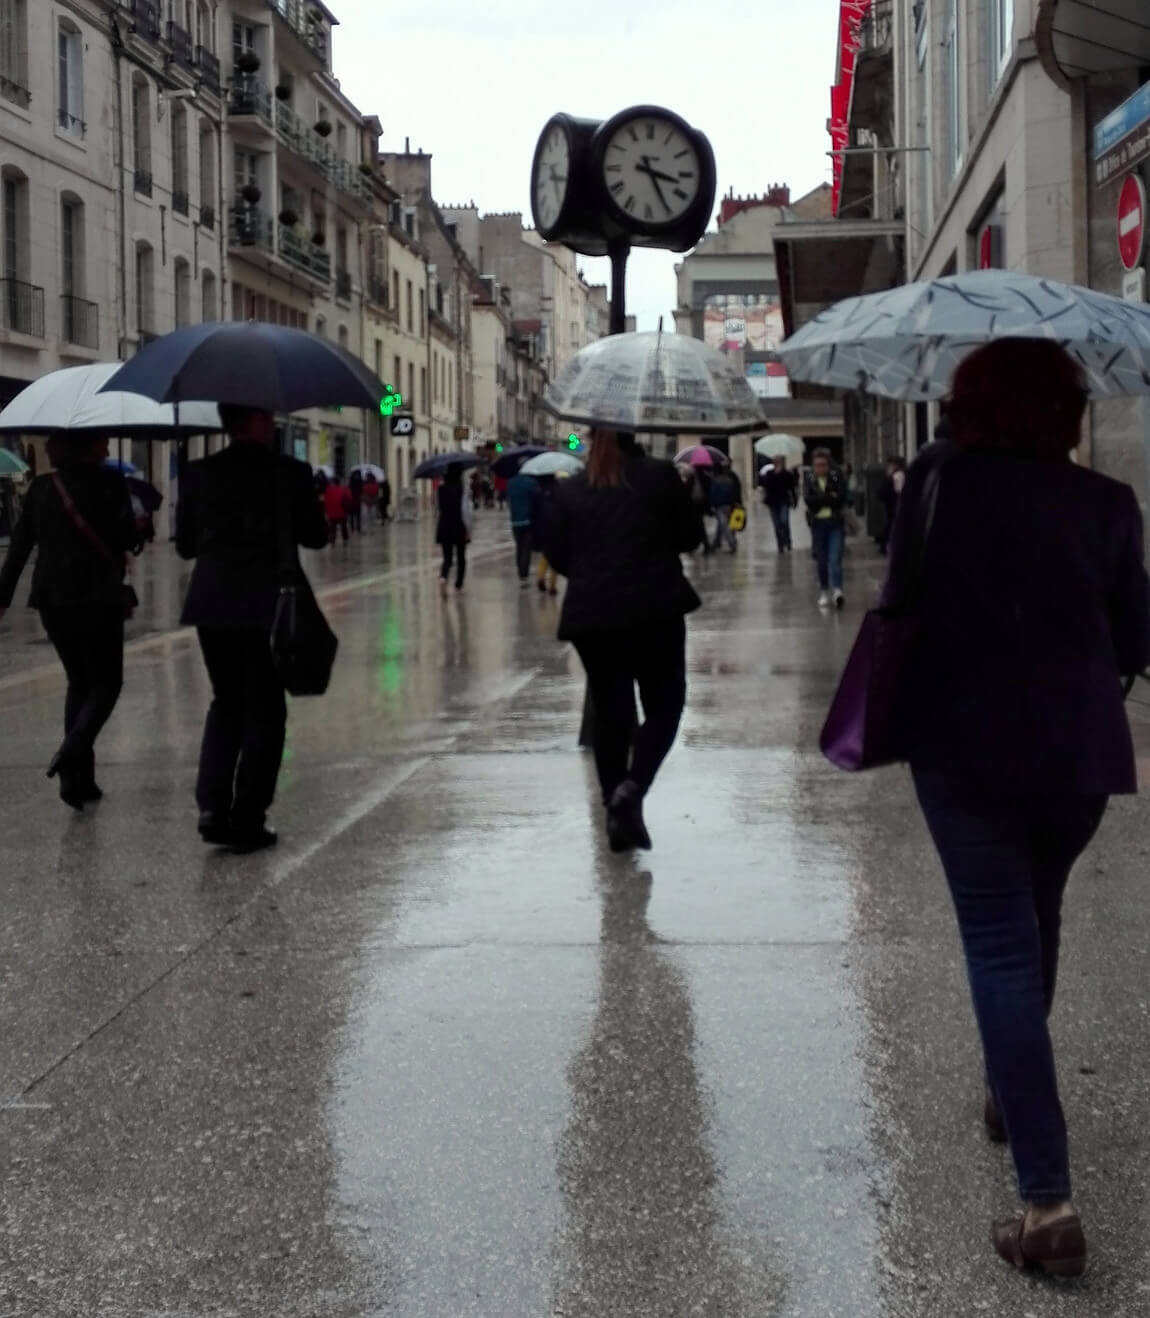
M 180 403 L 177 426 L 171 403 L 157 403 L 142 394 L 100 393 L 121 365 L 101 361 L 41 376 L 0 411 L 0 432 L 55 435 L 68 431 L 129 439 L 161 431 L 158 438 L 171 439 L 224 428 L 215 403 Z

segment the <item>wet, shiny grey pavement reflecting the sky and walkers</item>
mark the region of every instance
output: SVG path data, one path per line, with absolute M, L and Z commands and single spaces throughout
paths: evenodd
M 987 1244 L 1012 1176 L 908 778 L 813 749 L 880 564 L 855 552 L 821 616 L 764 523 L 693 569 L 640 859 L 602 844 L 578 666 L 495 514 L 447 604 L 427 525 L 312 560 L 342 650 L 292 706 L 258 857 L 195 834 L 169 547 L 83 817 L 42 775 L 51 655 L 9 616 L 0 1314 L 1150 1314 L 1142 801 L 1071 892 L 1055 1029 L 1095 1253 L 1054 1286 Z

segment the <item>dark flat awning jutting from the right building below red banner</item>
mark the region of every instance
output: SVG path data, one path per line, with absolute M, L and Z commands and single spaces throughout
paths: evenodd
M 814 220 L 775 227 L 782 323 L 794 333 L 833 302 L 906 278 L 901 220 Z

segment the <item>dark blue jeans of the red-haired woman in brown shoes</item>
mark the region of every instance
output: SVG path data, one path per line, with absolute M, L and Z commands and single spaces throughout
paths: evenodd
M 946 871 L 987 1077 L 1024 1199 L 1070 1198 L 1066 1120 L 1046 1017 L 1058 981 L 1062 898 L 1104 796 L 1000 800 L 937 770 L 914 786 Z

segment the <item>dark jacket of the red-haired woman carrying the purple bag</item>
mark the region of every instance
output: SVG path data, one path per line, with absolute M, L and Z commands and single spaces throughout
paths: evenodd
M 1150 580 L 1133 490 L 1068 461 L 930 445 L 900 498 L 888 601 L 943 456 L 906 758 L 1005 797 L 1134 792 L 1120 675 L 1150 663 Z

